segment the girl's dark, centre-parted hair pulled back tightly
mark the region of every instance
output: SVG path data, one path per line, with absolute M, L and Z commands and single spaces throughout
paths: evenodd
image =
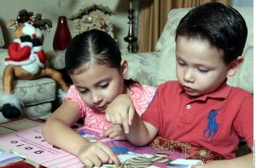
M 105 31 L 90 30 L 74 36 L 65 53 L 68 74 L 83 70 L 91 64 L 106 64 L 109 68 L 120 68 L 121 53 L 113 37 Z M 125 80 L 129 87 L 134 80 Z

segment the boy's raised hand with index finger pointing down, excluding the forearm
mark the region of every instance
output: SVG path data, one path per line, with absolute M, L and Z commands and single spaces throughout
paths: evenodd
M 108 105 L 106 119 L 113 124 L 123 125 L 125 133 L 128 133 L 134 113 L 135 109 L 130 96 L 121 94 Z

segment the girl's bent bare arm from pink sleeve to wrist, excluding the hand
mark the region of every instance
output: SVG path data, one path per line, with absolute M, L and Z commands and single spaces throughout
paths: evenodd
M 71 100 L 63 102 L 44 124 L 45 140 L 71 154 L 78 155 L 79 149 L 88 141 L 74 132 L 70 126 L 79 120 L 80 116 L 81 112 L 77 104 Z

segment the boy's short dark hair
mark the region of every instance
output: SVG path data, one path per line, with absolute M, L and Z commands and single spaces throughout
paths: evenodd
M 224 62 L 229 64 L 243 52 L 247 25 L 235 8 L 222 3 L 205 3 L 192 8 L 180 20 L 176 40 L 177 36 L 207 40 L 224 51 Z

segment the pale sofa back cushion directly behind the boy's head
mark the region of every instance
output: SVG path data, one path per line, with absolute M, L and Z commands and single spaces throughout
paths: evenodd
M 168 14 L 168 21 L 162 32 L 156 49 L 160 50 L 160 68 L 157 72 L 156 84 L 159 85 L 164 81 L 177 80 L 175 70 L 175 30 L 179 20 L 187 14 L 190 8 L 172 9 Z M 244 17 L 247 23 L 248 36 L 246 46 L 242 56 L 244 62 L 236 76 L 228 80 L 228 84 L 233 87 L 241 87 L 248 92 L 253 93 L 253 8 L 243 7 L 236 8 Z

